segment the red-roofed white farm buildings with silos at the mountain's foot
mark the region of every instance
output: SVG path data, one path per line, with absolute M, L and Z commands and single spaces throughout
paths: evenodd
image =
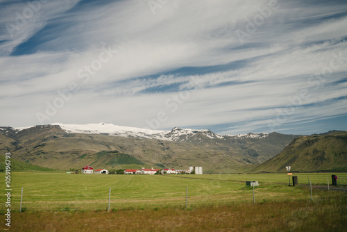
M 195 174 L 203 174 L 203 167 L 189 167 L 187 170 L 175 170 L 173 168 L 144 168 L 142 169 L 124 169 L 124 174 L 180 174 L 180 173 L 187 173 L 190 174 L 194 170 Z M 82 167 L 82 173 L 83 174 L 108 174 L 107 169 L 96 169 L 94 170 L 90 165 L 87 165 L 85 167 Z

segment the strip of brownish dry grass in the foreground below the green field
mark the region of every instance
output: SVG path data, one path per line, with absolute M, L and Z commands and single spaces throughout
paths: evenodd
M 26 211 L 10 231 L 324 231 L 344 232 L 347 197 L 325 192 L 314 201 L 226 204 L 195 208 L 105 211 Z M 1 229 L 5 228 L 0 225 Z

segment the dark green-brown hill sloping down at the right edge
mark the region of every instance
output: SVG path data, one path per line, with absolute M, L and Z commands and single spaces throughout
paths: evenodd
M 346 172 L 347 132 L 295 138 L 280 154 L 258 165 L 252 172 Z

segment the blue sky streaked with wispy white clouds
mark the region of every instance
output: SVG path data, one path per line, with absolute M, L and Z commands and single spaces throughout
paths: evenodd
M 0 0 L 0 126 L 347 131 L 347 1 Z

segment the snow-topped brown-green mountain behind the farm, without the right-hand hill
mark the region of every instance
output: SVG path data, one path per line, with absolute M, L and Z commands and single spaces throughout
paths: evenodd
M 276 156 L 298 135 L 219 135 L 210 130 L 156 131 L 113 124 L 49 124 L 0 127 L 0 151 L 54 169 L 203 166 L 205 172 L 237 172 Z

